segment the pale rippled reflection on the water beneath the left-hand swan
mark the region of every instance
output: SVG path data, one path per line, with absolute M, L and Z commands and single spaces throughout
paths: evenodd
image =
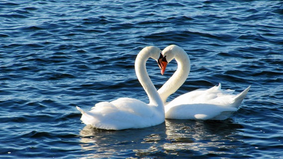
M 80 131 L 81 147 L 88 152 L 86 159 L 137 156 L 144 152 L 155 152 L 158 150 L 150 145 L 159 145 L 159 140 L 164 139 L 164 136 L 159 135 L 164 134 L 164 124 L 121 131 L 96 129 L 87 125 Z

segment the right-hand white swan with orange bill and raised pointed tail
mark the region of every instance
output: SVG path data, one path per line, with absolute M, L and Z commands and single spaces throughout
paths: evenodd
M 186 80 L 190 72 L 190 59 L 187 53 L 176 45 L 170 45 L 162 51 L 163 57 L 158 59 L 161 74 L 164 73 L 166 62 L 175 59 L 178 68 L 170 79 L 158 89 L 165 105 L 165 118 L 168 119 L 199 119 L 225 120 L 237 111 L 251 86 L 237 95 L 234 90 L 223 90 L 221 84 L 210 89 L 197 89 L 166 102 L 169 95 L 174 93 Z M 160 62 L 163 62 L 160 65 Z

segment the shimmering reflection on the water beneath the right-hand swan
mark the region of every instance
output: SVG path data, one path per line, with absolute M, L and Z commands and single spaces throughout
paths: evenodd
M 237 129 L 243 128 L 234 124 L 231 119 L 225 121 L 166 120 L 166 139 L 163 144 L 167 154 L 228 154 L 228 149 L 236 149 L 241 143 L 233 137 Z M 228 143 L 228 144 L 227 144 Z

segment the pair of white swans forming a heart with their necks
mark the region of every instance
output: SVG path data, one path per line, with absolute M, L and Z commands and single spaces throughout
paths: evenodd
M 167 64 L 175 59 L 178 68 L 164 85 L 156 90 L 146 72 L 145 63 L 156 60 L 163 75 Z M 149 104 L 138 99 L 119 98 L 111 102 L 97 103 L 90 111 L 81 111 L 81 120 L 86 125 L 99 129 L 122 130 L 155 126 L 169 119 L 225 120 L 238 110 L 250 86 L 237 95 L 233 90 L 222 90 L 221 84 L 210 89 L 197 89 L 166 102 L 187 79 L 190 60 L 187 53 L 176 45 L 163 51 L 157 47 L 143 48 L 135 61 L 137 77 L 144 88 Z

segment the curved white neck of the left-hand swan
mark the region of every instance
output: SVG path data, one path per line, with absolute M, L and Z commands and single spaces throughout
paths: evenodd
M 138 54 L 135 62 L 135 70 L 141 86 L 143 87 L 149 98 L 149 104 L 157 105 L 158 109 L 164 111 L 163 102 L 146 71 L 145 64 L 146 61 L 150 58 L 149 51 L 150 50 L 144 48 Z M 159 56 L 159 54 L 157 54 L 157 56 Z

